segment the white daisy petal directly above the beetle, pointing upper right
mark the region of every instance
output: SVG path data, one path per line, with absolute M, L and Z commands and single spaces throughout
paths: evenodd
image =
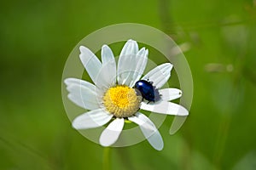
M 161 88 L 170 78 L 172 71 L 172 64 L 165 63 L 158 65 L 153 70 L 149 71 L 142 79 L 153 82 L 156 88 Z

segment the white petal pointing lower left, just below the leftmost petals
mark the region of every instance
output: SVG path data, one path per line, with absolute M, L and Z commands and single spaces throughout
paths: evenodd
M 77 116 L 73 120 L 72 125 L 76 129 L 101 127 L 102 125 L 109 122 L 112 117 L 113 115 L 108 114 L 106 111 L 103 111 L 102 109 L 97 109 Z

